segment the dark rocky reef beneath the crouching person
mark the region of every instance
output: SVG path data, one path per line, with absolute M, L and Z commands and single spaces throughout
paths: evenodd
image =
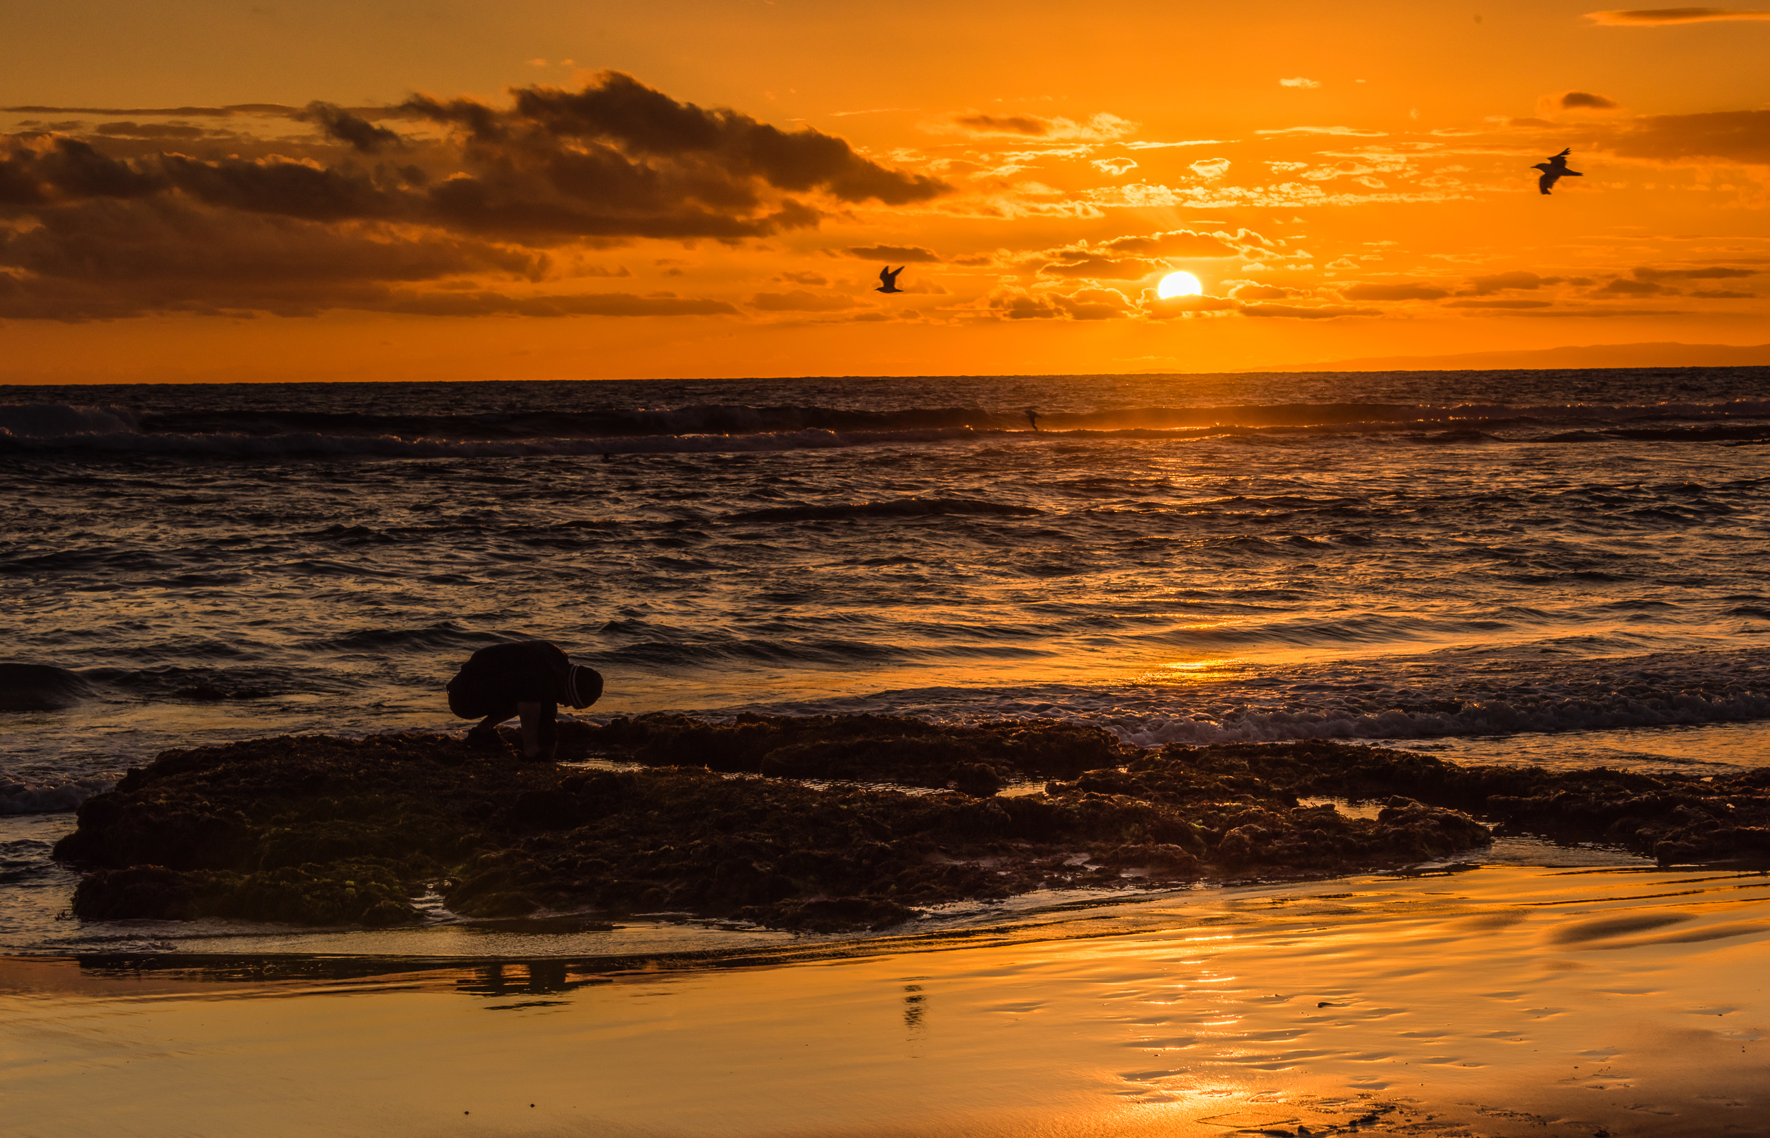
M 1382 809 L 1351 818 L 1299 795 Z M 435 892 L 476 919 L 669 911 L 848 931 L 1035 888 L 1407 865 L 1487 844 L 1476 818 L 1662 860 L 1761 857 L 1770 772 L 1551 773 L 1324 742 L 1145 752 L 1064 722 L 651 715 L 563 724 L 558 765 L 423 733 L 168 750 L 87 800 L 57 857 L 85 871 L 73 910 L 87 919 L 388 926 L 421 920 L 414 899 Z

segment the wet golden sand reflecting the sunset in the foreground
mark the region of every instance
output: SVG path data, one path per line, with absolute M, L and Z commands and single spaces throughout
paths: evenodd
M 1763 873 L 1489 865 L 798 943 L 11 957 L 0 1101 L 30 1138 L 1770 1131 Z

